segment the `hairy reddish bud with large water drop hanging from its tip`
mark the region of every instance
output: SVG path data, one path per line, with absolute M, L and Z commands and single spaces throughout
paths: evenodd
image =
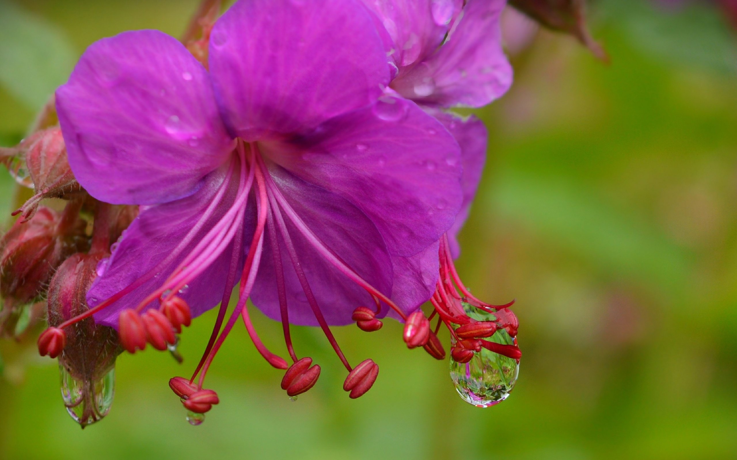
M 114 386 L 115 359 L 121 352 L 118 334 L 113 328 L 98 325 L 86 318 L 63 330 L 68 319 L 88 311 L 87 291 L 97 277 L 97 263 L 105 254 L 71 255 L 59 266 L 49 283 L 49 329 L 38 339 L 39 350 L 49 350 L 52 340 L 66 337 L 59 355 L 63 397 L 67 411 L 83 427 L 97 422 L 110 410 Z M 51 345 L 45 345 L 49 343 Z

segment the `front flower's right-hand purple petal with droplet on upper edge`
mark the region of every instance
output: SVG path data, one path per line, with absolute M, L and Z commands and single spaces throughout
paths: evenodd
M 307 182 L 348 199 L 377 225 L 391 255 L 424 250 L 461 206 L 460 148 L 413 102 L 383 96 L 263 152 Z

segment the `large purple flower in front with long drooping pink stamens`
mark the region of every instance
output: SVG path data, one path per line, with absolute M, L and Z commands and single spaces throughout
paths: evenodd
M 202 379 L 238 316 L 287 368 L 256 336 L 248 298 L 284 325 L 296 363 L 287 393 L 319 375 L 297 358 L 289 325 L 320 325 L 357 397 L 378 367 L 351 367 L 328 325 L 354 321 L 363 305 L 405 317 L 433 295 L 438 241 L 463 199 L 460 149 L 444 124 L 386 89 L 385 38 L 359 0 L 239 1 L 212 30 L 209 71 L 162 32 L 125 32 L 90 46 L 57 91 L 79 183 L 102 201 L 142 205 L 98 267 L 88 314 L 135 351 L 165 347 L 172 327 L 221 302 L 198 385 L 172 381 L 190 410 L 217 403 Z

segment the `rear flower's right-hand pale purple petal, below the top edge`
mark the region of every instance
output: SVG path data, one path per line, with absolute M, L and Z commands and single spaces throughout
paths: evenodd
M 509 89 L 512 69 L 501 44 L 500 14 L 506 0 L 469 0 L 447 42 L 424 63 L 391 82 L 417 102 L 442 107 L 481 107 Z

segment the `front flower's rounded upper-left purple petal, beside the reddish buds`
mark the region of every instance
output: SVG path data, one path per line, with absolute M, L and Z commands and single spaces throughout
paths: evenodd
M 56 105 L 74 175 L 105 202 L 186 197 L 231 150 L 207 71 L 156 30 L 91 45 Z

